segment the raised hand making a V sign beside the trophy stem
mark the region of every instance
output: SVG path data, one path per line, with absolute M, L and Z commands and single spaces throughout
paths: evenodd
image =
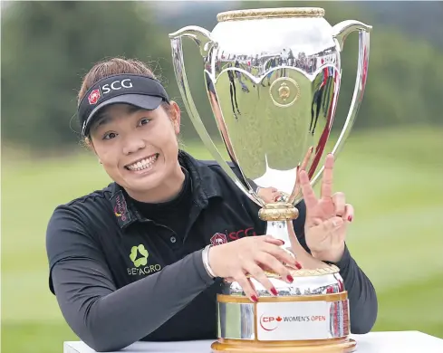
M 324 163 L 320 198 L 313 192 L 309 177 L 300 172 L 300 186 L 306 205 L 304 234 L 313 257 L 338 262 L 344 252 L 347 226 L 352 222 L 353 207 L 346 204 L 343 193 L 332 195 L 332 169 L 334 157 L 329 154 Z

